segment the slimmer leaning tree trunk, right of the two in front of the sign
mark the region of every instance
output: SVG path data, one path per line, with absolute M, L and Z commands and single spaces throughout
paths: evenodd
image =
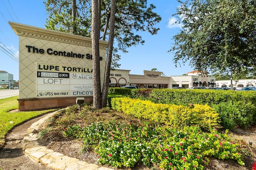
M 110 12 L 110 33 L 108 41 L 108 53 L 106 58 L 106 67 L 104 74 L 104 82 L 102 87 L 102 107 L 107 106 L 108 99 L 108 85 L 110 78 L 110 66 L 112 61 L 112 51 L 114 43 L 114 31 L 115 31 L 115 14 L 116 14 L 116 0 L 111 0 L 111 12 Z

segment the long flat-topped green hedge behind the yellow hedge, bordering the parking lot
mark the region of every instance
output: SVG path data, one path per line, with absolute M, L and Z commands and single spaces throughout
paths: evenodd
M 230 90 L 186 90 L 186 89 L 154 89 L 150 99 L 163 104 L 221 104 L 223 102 L 251 102 L 256 105 L 256 92 Z

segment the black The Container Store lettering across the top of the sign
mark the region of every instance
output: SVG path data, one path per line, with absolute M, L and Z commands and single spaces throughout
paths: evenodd
M 26 48 L 28 49 L 28 53 L 39 53 L 44 54 L 47 53 L 48 55 L 54 55 L 54 56 L 63 56 L 63 57 L 73 57 L 73 58 L 80 58 L 80 59 L 92 59 L 91 54 L 80 54 L 80 53 L 74 53 L 73 51 L 67 52 L 67 51 L 56 51 L 54 49 L 48 48 L 46 50 L 44 49 L 38 49 L 34 46 L 26 45 Z M 102 57 L 100 57 L 100 61 L 102 60 Z

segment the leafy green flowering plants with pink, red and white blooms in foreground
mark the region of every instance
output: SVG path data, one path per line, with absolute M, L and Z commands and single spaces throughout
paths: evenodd
M 99 163 L 117 168 L 158 163 L 162 169 L 203 170 L 208 156 L 244 164 L 242 149 L 230 143 L 227 132 L 221 134 L 216 129 L 204 133 L 197 126 L 171 128 L 147 121 L 142 124 L 110 121 L 85 127 L 74 125 L 64 129 L 64 133 L 95 147 Z

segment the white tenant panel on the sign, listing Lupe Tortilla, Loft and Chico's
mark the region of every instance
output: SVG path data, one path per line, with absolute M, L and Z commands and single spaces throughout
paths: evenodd
M 92 96 L 92 67 L 36 63 L 37 98 Z

